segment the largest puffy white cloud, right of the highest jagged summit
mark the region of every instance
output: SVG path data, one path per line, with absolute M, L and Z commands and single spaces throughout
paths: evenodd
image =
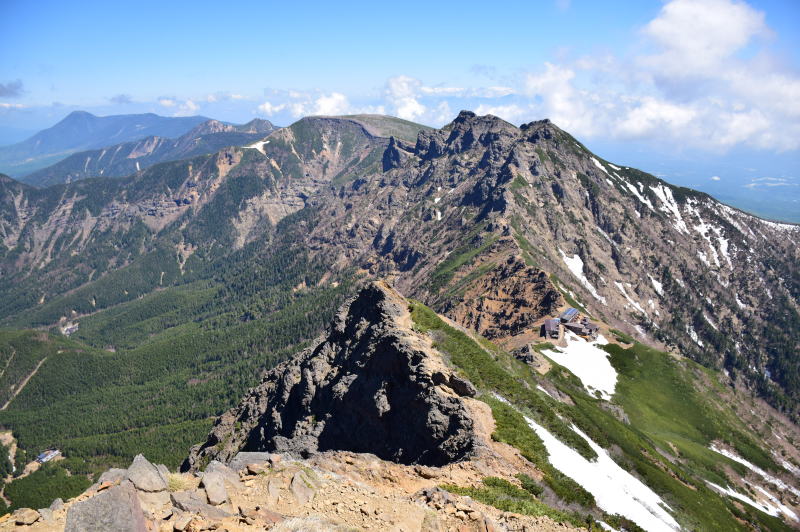
M 515 122 L 548 117 L 590 138 L 795 150 L 800 77 L 770 60 L 763 44 L 772 35 L 744 2 L 672 0 L 642 29 L 638 56 L 544 63 L 524 75 L 513 102 L 477 110 Z

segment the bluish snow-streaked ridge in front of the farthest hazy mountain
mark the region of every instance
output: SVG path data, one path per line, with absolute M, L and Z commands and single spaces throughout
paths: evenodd
M 71 183 L 87 177 L 123 177 L 165 161 L 188 159 L 226 146 L 243 146 L 275 131 L 267 120 L 244 125 L 207 120 L 177 138 L 148 136 L 131 142 L 74 153 L 66 159 L 23 177 L 34 186 Z

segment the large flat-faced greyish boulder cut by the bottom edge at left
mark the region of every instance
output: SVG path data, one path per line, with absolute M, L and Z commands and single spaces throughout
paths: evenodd
M 147 532 L 136 490 L 114 486 L 73 504 L 67 512 L 64 532 Z

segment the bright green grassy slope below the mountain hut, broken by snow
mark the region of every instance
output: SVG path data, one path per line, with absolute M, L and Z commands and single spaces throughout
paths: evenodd
M 581 508 L 568 518 L 549 514 L 554 518 L 577 524 L 582 519 L 581 512 L 588 512 L 597 518 L 608 517 L 609 522 L 619 522 L 618 516 L 603 516 L 598 512 L 590 494 L 581 495 L 582 490 L 575 489 L 571 479 L 549 464 L 541 439 L 524 422 L 523 413 L 584 456 L 585 440 L 569 428 L 570 424 L 602 447 L 615 449 L 611 455 L 617 463 L 658 493 L 687 529 L 720 532 L 749 530 L 751 526 L 762 530 L 790 529 L 780 519 L 734 504 L 705 483 L 705 480 L 727 483 L 723 465 L 729 465 L 730 461 L 707 449 L 714 439 L 730 442 L 743 456 L 762 467 L 777 467 L 758 448 L 756 437 L 748 433 L 730 407 L 714 400 L 713 386 L 695 376 L 695 372 L 700 372 L 702 376 L 713 377 L 713 372 L 640 344 L 627 350 L 609 347 L 620 374 L 614 402 L 629 415 L 627 424 L 603 408 L 601 400 L 589 396 L 565 368 L 554 365 L 546 376 L 540 376 L 487 340 L 451 327 L 424 305 L 412 302 L 410 309 L 416 328 L 432 337 L 434 347 L 478 386 L 481 398 L 492 407 L 497 423 L 493 437 L 516 447 L 542 470 L 545 485 L 562 501 L 562 508 L 569 504 L 572 510 L 575 505 Z M 574 404 L 555 401 L 537 391 L 536 384 L 545 379 Z M 493 394 L 508 399 L 513 407 L 494 399 Z M 663 449 L 670 448 L 667 442 L 680 449 L 678 459 L 662 454 Z M 454 486 L 448 489 L 503 509 L 506 506 L 515 511 L 527 509 L 532 515 L 542 512 L 540 505 L 526 502 L 526 496 L 518 492 L 513 497 L 502 495 L 507 489 L 492 481 L 479 489 Z

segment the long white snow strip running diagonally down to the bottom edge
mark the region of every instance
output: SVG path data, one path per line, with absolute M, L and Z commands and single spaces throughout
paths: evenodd
M 664 509 L 669 508 L 661 497 L 644 483 L 617 465 L 608 453 L 577 427 L 572 427 L 597 453 L 590 462 L 577 451 L 561 443 L 544 427 L 525 418 L 528 425 L 542 439 L 550 463 L 594 495 L 597 506 L 610 514 L 624 515 L 650 532 L 680 530 L 675 519 Z

